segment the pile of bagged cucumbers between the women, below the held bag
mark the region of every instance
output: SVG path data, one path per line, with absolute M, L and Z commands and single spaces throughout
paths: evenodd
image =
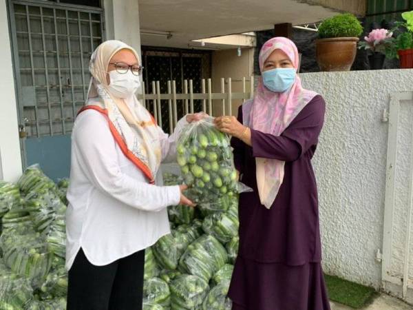
M 182 178 L 164 174 L 165 185 Z M 222 198 L 222 197 L 221 197 Z M 226 297 L 238 250 L 237 195 L 214 211 L 168 208 L 171 234 L 145 251 L 145 310 L 230 310 Z

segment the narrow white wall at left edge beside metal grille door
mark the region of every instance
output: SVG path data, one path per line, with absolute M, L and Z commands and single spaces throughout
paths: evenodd
M 22 165 L 6 1 L 0 1 L 0 29 L 0 178 L 14 181 Z

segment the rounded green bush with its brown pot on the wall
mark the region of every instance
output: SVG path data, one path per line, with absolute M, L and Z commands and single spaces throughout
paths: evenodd
M 316 41 L 317 63 L 322 71 L 349 71 L 357 54 L 357 42 L 363 32 L 353 14 L 339 14 L 324 20 Z

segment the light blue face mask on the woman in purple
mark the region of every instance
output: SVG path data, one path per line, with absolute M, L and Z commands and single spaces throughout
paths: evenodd
M 278 68 L 262 72 L 265 87 L 272 92 L 285 92 L 295 82 L 295 68 Z

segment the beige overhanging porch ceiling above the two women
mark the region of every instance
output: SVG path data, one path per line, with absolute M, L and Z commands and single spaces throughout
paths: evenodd
M 301 0 L 139 0 L 141 44 L 173 48 L 190 48 L 195 39 L 267 30 L 277 23 L 315 23 L 334 14 Z

